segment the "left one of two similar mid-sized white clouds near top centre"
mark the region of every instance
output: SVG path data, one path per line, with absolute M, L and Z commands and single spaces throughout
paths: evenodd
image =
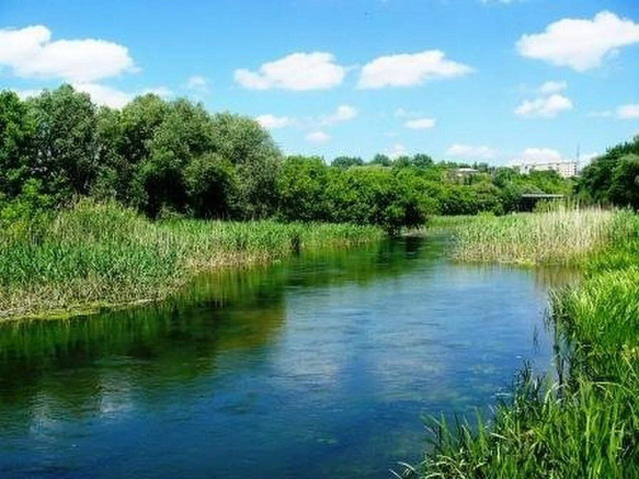
M 235 70 L 235 81 L 253 90 L 281 88 L 288 90 L 329 89 L 341 84 L 346 69 L 335 63 L 326 52 L 294 53 L 264 63 L 258 72 L 244 68 Z

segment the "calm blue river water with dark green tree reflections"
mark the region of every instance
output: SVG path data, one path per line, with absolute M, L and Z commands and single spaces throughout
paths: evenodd
M 547 270 L 407 238 L 0 327 L 0 478 L 387 478 L 429 415 L 549 369 Z

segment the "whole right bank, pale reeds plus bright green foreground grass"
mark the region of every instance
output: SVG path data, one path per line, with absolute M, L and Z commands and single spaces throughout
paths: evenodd
M 479 220 L 462 227 L 457 248 L 462 259 L 578 262 L 585 273 L 553 296 L 561 380 L 523 371 L 490 422 L 435 423 L 420 477 L 639 477 L 639 218 L 589 210 Z

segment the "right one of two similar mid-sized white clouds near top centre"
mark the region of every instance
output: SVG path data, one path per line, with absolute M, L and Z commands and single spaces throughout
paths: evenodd
M 472 71 L 470 66 L 445 59 L 440 50 L 389 55 L 378 57 L 364 65 L 357 87 L 373 89 L 415 86 L 428 80 L 459 77 Z

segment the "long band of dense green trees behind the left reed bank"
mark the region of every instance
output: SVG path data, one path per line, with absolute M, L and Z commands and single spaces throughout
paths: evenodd
M 571 191 L 555 172 L 459 170 L 468 166 L 424 154 L 369 163 L 340 156 L 330 166 L 286 158 L 253 119 L 209 114 L 185 99 L 149 94 L 115 110 L 68 85 L 24 102 L 0 93 L 4 219 L 92 196 L 150 218 L 352 222 L 396 232 L 427 215 L 502 214 L 518 209 L 521 194 Z

